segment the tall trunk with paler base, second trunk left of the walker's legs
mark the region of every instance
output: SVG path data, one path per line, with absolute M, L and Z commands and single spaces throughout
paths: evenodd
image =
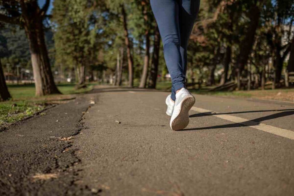
M 148 15 L 147 15 L 147 2 L 145 0 L 141 1 L 141 4 L 143 6 L 143 15 L 144 15 L 144 22 L 146 26 L 146 32 L 145 32 L 145 39 L 146 39 L 146 48 L 145 48 L 145 57 L 144 57 L 144 66 L 143 66 L 143 72 L 141 76 L 141 81 L 139 88 L 145 88 L 146 87 L 146 81 L 147 81 L 147 75 L 148 75 L 148 67 L 149 67 L 149 58 L 150 58 L 150 38 L 149 38 L 149 27 L 148 27 Z

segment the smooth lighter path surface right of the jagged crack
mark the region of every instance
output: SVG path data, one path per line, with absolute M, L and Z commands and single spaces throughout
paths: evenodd
M 294 140 L 253 128 L 294 139 L 294 104 L 195 95 L 190 124 L 172 131 L 167 92 L 96 92 L 76 145 L 80 183 L 101 195 L 294 195 Z

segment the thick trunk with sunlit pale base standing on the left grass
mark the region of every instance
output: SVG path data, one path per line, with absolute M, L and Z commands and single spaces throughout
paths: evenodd
M 22 2 L 24 29 L 29 40 L 31 61 L 33 66 L 36 96 L 60 93 L 51 72 L 48 52 L 45 44 L 42 17 L 36 1 Z

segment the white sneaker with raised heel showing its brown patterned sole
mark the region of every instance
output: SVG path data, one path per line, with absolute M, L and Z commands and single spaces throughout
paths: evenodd
M 195 103 L 195 97 L 182 88 L 176 93 L 176 102 L 171 116 L 170 126 L 172 130 L 184 129 L 189 124 L 189 110 Z

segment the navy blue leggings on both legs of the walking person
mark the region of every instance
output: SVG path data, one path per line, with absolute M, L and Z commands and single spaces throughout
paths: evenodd
M 163 41 L 163 53 L 171 75 L 171 99 L 185 87 L 187 46 L 200 0 L 150 0 Z

